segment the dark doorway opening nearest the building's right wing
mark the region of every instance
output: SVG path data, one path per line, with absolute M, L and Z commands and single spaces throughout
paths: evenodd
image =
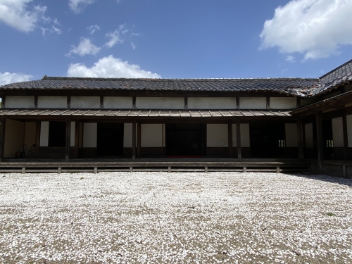
M 251 156 L 279 158 L 285 154 L 284 124 L 250 124 Z

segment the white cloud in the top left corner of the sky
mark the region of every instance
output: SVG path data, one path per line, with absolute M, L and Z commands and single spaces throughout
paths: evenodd
M 33 31 L 41 19 L 48 23 L 50 18 L 44 17 L 46 6 L 29 8 L 30 2 L 32 0 L 0 0 L 0 20 L 22 32 Z

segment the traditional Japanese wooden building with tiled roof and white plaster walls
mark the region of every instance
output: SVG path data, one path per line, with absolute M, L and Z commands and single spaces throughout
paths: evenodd
M 309 164 L 349 177 L 350 82 L 352 61 L 316 79 L 44 76 L 6 84 L 0 170 L 279 172 Z

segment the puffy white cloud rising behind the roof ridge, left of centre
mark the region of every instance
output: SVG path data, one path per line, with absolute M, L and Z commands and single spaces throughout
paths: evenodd
M 67 75 L 69 77 L 161 78 L 156 73 L 142 70 L 139 65 L 130 64 L 112 55 L 101 58 L 92 68 L 87 68 L 83 63 L 72 63 Z

